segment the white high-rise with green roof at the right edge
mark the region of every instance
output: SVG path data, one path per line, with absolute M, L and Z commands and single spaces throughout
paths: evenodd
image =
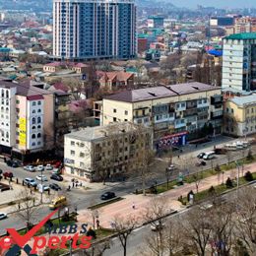
M 256 32 L 224 37 L 223 89 L 256 90 Z

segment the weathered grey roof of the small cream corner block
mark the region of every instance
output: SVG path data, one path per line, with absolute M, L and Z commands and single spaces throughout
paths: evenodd
M 105 126 L 88 127 L 77 132 L 66 134 L 65 137 L 84 142 L 93 142 L 102 138 L 111 138 L 111 136 L 116 136 L 117 134 L 122 134 L 135 129 L 136 125 L 129 122 L 115 123 Z

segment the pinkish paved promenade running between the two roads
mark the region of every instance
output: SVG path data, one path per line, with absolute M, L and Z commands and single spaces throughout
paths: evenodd
M 248 170 L 251 172 L 256 172 L 256 163 L 245 165 L 244 173 Z M 236 171 L 237 171 L 236 169 L 230 169 L 228 171 L 225 171 L 224 181 L 226 180 L 227 177 L 235 178 Z M 219 179 L 220 179 L 220 176 L 218 178 L 218 175 L 214 175 L 201 180 L 199 184 L 199 192 L 207 190 L 211 186 L 219 185 Z M 169 212 L 171 212 L 172 210 L 179 211 L 183 209 L 184 206 L 182 206 L 180 202 L 177 201 L 177 198 L 181 195 L 182 197 L 186 197 L 188 192 L 191 190 L 193 190 L 194 192 L 196 191 L 195 183 L 184 184 L 183 186 L 161 193 L 158 196 L 154 196 L 154 195 L 143 196 L 143 195 L 134 195 L 134 194 L 125 196 L 124 199 L 121 201 L 118 201 L 116 203 L 112 203 L 97 209 L 99 214 L 99 218 L 98 218 L 99 223 L 101 226 L 109 228 L 115 216 L 119 216 L 123 219 L 127 219 L 132 216 L 133 218 L 136 218 L 139 223 L 142 223 L 143 222 L 142 217 L 144 216 L 145 211 L 147 211 L 147 208 L 151 205 L 151 200 L 154 197 L 162 197 L 162 196 L 165 197 L 166 199 L 165 206 L 166 208 L 169 209 Z M 135 210 L 132 208 L 133 204 L 135 204 L 135 207 L 136 207 Z M 93 220 L 92 212 L 90 210 L 79 211 L 79 217 L 78 217 L 79 223 L 92 224 L 93 221 L 90 221 L 90 220 Z

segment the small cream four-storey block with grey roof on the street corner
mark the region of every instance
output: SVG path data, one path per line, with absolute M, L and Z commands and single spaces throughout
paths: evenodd
M 65 171 L 99 181 L 138 167 L 138 156 L 152 148 L 152 130 L 128 122 L 86 128 L 65 135 Z

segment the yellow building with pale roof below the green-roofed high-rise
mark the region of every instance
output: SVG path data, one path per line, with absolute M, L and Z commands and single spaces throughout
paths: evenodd
M 235 96 L 224 102 L 224 133 L 233 136 L 256 133 L 256 95 Z

